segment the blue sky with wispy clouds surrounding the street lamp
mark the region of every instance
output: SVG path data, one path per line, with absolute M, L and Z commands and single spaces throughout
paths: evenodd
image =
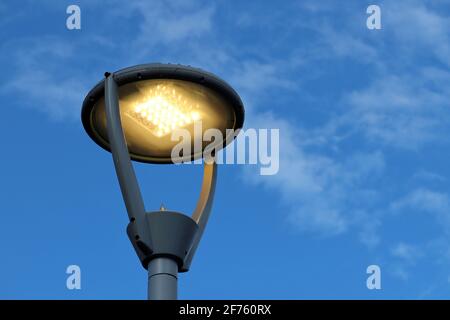
M 71 4 L 81 30 L 66 29 Z M 448 1 L 2 1 L 0 298 L 146 297 L 111 156 L 80 109 L 105 71 L 148 62 L 217 74 L 247 128 L 280 129 L 277 175 L 219 168 L 180 298 L 448 298 L 449 14 Z M 148 210 L 193 210 L 201 166 L 136 171 Z M 66 289 L 71 264 L 82 290 Z

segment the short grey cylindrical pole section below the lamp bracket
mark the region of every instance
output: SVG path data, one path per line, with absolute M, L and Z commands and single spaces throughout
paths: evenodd
M 148 264 L 148 299 L 176 300 L 178 264 L 170 258 L 154 258 Z

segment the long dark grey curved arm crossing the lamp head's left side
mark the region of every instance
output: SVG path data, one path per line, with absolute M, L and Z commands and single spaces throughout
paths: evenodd
M 114 160 L 120 189 L 127 208 L 128 217 L 136 231 L 136 239 L 147 238 L 148 230 L 145 223 L 145 207 L 139 184 L 131 164 L 130 154 L 123 134 L 119 110 L 119 94 L 114 74 L 105 73 L 105 112 L 109 144 Z M 148 244 L 151 246 L 151 243 Z

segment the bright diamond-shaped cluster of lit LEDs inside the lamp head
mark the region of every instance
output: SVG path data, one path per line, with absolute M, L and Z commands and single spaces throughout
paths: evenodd
M 126 115 L 157 137 L 201 120 L 198 105 L 192 106 L 175 88 L 157 85 L 143 95 Z

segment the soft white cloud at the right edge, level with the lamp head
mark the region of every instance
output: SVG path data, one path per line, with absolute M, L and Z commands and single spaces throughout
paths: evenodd
M 445 76 L 450 81 L 450 73 Z M 373 142 L 405 149 L 441 140 L 450 126 L 450 91 L 444 83 L 432 89 L 431 80 L 424 72 L 386 75 L 350 93 L 347 125 L 354 123 Z

